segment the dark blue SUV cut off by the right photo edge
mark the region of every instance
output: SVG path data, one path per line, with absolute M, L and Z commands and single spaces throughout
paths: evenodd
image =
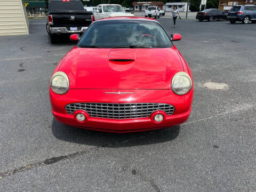
M 229 12 L 227 19 L 230 23 L 235 23 L 236 21 L 242 21 L 242 23 L 247 24 L 249 21 L 252 23 L 256 22 L 256 5 L 236 5 L 233 6 Z

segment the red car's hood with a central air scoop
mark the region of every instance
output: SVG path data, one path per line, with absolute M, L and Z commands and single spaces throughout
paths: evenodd
M 59 71 L 70 89 L 171 89 L 183 66 L 174 47 L 161 49 L 74 48 Z

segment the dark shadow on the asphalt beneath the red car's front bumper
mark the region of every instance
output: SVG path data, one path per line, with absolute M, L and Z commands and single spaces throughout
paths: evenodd
M 150 145 L 171 141 L 178 137 L 179 131 L 180 126 L 178 125 L 154 131 L 119 134 L 79 129 L 61 124 L 54 118 L 52 121 L 52 133 L 57 139 L 82 145 L 113 148 Z

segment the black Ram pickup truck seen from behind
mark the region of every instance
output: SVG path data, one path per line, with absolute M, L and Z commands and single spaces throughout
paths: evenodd
M 56 43 L 62 34 L 83 34 L 94 21 L 94 15 L 84 9 L 81 0 L 51 0 L 47 19 L 47 33 L 51 43 Z

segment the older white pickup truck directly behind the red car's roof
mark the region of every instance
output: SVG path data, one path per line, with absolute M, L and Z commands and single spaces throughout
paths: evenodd
M 116 4 L 100 4 L 98 5 L 98 10 L 94 13 L 95 20 L 122 16 L 134 16 L 134 14 L 125 13 L 123 7 Z

